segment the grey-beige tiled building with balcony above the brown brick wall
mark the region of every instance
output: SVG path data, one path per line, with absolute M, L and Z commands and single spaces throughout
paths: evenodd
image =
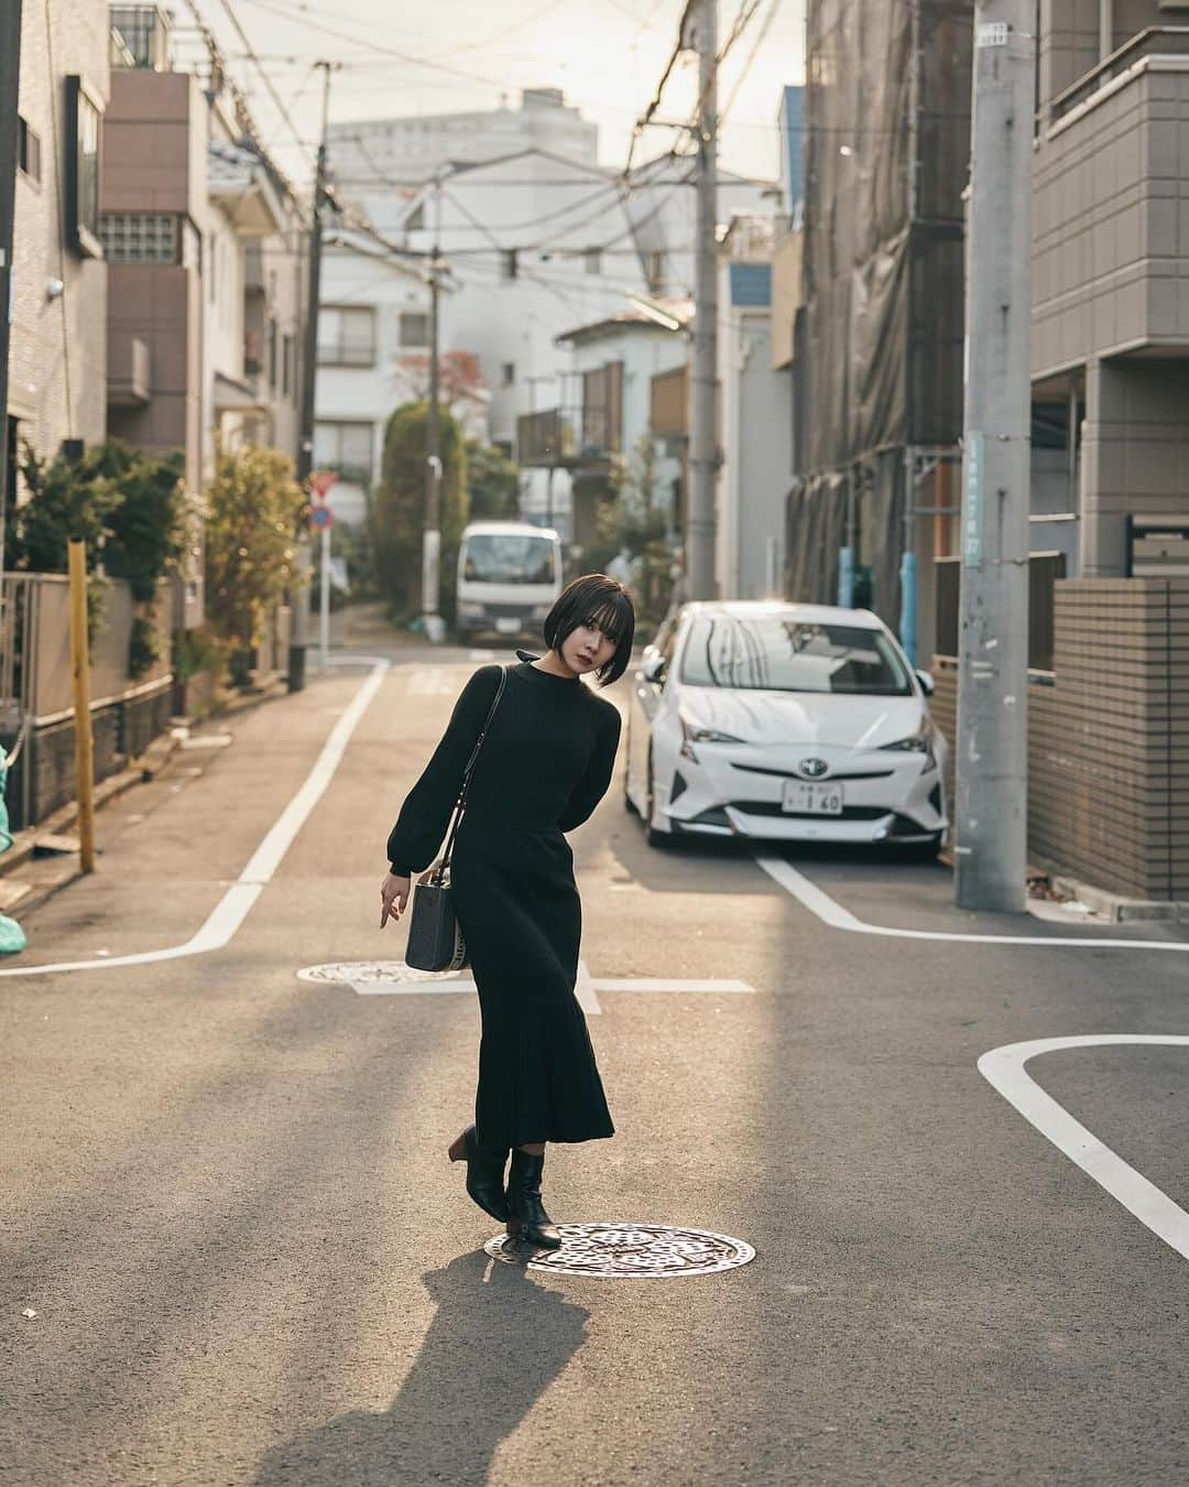
M 1083 577 L 1189 572 L 1189 4 L 1040 6 L 1033 523 Z

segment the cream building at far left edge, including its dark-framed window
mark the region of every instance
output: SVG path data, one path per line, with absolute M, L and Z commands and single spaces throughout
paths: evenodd
M 7 439 L 54 455 L 106 427 L 100 141 L 106 0 L 27 0 L 21 31 Z M 9 461 L 15 495 L 15 461 Z

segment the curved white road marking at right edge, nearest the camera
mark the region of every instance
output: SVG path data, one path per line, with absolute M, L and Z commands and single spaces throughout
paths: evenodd
M 1189 1213 L 1128 1166 L 1110 1146 L 1103 1145 L 1024 1071 L 1028 1059 L 1034 1059 L 1039 1053 L 1055 1053 L 1061 1048 L 1101 1048 L 1118 1044 L 1189 1048 L 1189 1038 L 1158 1033 L 1037 1038 L 1033 1042 L 1011 1042 L 1002 1048 L 991 1048 L 978 1060 L 978 1071 L 1058 1151 L 1063 1151 L 1070 1161 L 1076 1161 L 1082 1172 L 1094 1178 L 1100 1188 L 1118 1199 L 1130 1213 L 1134 1213 L 1165 1245 L 1176 1249 L 1183 1259 L 1189 1259 Z

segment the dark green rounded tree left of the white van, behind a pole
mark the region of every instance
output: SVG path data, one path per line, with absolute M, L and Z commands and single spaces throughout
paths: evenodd
M 380 593 L 388 613 L 412 619 L 422 610 L 421 550 L 425 516 L 427 403 L 406 403 L 388 419 L 383 431 L 380 482 L 372 498 L 373 541 Z M 458 546 L 467 525 L 467 451 L 455 419 L 438 413 L 441 451 L 440 525 L 441 584 L 438 610 L 453 619 Z

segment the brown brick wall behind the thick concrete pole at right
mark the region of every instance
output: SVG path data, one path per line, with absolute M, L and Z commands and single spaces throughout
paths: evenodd
M 1066 580 L 1054 630 L 1052 686 L 1028 687 L 1028 854 L 1112 892 L 1186 900 L 1189 578 Z M 938 657 L 935 672 L 953 741 L 957 671 Z

